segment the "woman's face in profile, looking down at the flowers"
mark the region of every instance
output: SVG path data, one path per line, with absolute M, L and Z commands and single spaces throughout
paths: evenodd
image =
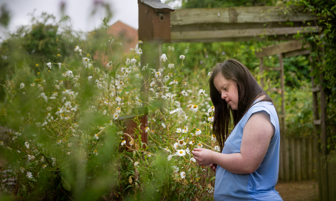
M 220 73 L 214 78 L 214 85 L 221 98 L 224 99 L 233 110 L 238 109 L 238 90 L 235 81 L 227 80 Z

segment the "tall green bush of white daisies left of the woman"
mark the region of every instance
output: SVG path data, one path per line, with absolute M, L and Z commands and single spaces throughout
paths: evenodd
M 159 69 L 140 64 L 141 43 L 112 68 L 76 46 L 66 62 L 48 61 L 38 74 L 27 66 L 16 72 L 1 112 L 10 141 L 0 148 L 17 185 L 10 191 L 1 184 L 2 193 L 36 200 L 210 199 L 214 175 L 190 154 L 197 147 L 219 151 L 208 72 L 188 79 L 184 55 L 172 63 L 162 54 Z M 141 85 L 148 102 L 140 99 Z M 144 110 L 147 127 L 138 112 Z M 132 135 L 121 120 L 130 115 L 137 123 Z M 141 142 L 144 132 L 148 144 Z

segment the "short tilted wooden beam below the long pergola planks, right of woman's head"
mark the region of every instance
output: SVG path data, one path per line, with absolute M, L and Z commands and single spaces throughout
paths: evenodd
M 316 27 L 317 28 L 317 27 Z M 256 57 L 267 57 L 271 55 L 288 53 L 295 50 L 302 50 L 305 48 L 309 48 L 309 44 L 302 47 L 302 43 L 300 41 L 288 41 L 285 43 L 279 43 L 275 46 L 269 46 L 266 48 L 261 48 L 259 51 L 255 51 Z

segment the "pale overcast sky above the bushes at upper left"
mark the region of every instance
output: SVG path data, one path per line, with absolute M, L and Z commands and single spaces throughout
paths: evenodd
M 165 0 L 162 0 L 165 2 Z M 113 17 L 109 25 L 121 22 L 138 29 L 138 1 L 137 0 L 0 0 L 0 7 L 6 4 L 10 12 L 10 25 L 7 29 L 0 29 L 0 37 L 6 38 L 6 33 L 15 32 L 20 25 L 29 25 L 31 17 L 45 12 L 52 14 L 58 21 L 62 17 L 61 5 L 64 4 L 64 14 L 69 15 L 73 29 L 88 32 L 102 25 L 102 18 L 106 12 L 102 4 L 110 4 Z M 171 5 L 174 6 L 174 5 Z M 97 8 L 94 15 L 92 9 Z

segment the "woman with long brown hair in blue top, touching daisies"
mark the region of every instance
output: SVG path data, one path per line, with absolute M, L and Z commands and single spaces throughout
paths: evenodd
M 214 199 L 282 200 L 274 189 L 280 128 L 272 99 L 237 60 L 218 64 L 209 86 L 215 106 L 213 131 L 222 153 L 205 148 L 192 153 L 199 165 L 210 165 L 216 172 Z

